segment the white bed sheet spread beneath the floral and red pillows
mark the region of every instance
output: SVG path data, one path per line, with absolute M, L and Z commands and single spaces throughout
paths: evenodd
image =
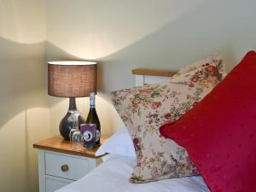
M 74 183 L 55 192 L 210 192 L 199 176 L 129 183 L 136 158 L 112 156 Z

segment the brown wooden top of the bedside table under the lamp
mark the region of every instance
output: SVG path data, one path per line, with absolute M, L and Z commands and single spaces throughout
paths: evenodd
M 104 143 L 106 139 L 107 137 L 101 137 L 101 143 Z M 102 156 L 96 157 L 95 155 L 96 150 L 99 147 L 100 145 L 96 146 L 96 148 L 93 148 L 93 149 L 87 149 L 87 148 L 83 148 L 81 144 L 79 149 L 73 149 L 73 146 L 70 143 L 70 141 L 65 140 L 61 136 L 50 137 L 48 139 L 45 139 L 43 141 L 33 144 L 33 148 L 55 151 L 63 154 L 75 154 L 75 155 L 90 157 L 94 159 L 102 157 Z

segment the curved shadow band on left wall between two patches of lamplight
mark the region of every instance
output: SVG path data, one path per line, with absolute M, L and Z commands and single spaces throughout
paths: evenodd
M 0 38 L 0 129 L 17 113 L 49 108 L 45 42 L 19 44 Z

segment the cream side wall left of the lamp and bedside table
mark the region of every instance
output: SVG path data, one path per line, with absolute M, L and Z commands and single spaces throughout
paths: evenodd
M 49 137 L 44 0 L 0 0 L 0 191 L 37 192 Z

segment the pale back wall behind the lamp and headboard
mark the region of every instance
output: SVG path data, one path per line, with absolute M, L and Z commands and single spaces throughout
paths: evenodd
M 131 87 L 132 68 L 178 69 L 216 51 L 231 69 L 256 49 L 255 8 L 254 0 L 46 0 L 47 60 L 99 61 L 105 94 Z M 122 123 L 100 97 L 103 134 L 111 134 Z M 55 131 L 67 101 L 50 101 Z

